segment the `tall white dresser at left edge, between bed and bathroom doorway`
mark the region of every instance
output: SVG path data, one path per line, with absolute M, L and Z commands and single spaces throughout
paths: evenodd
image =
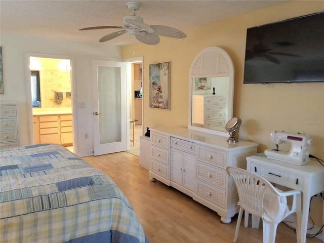
M 0 147 L 19 146 L 18 103 L 0 105 Z

